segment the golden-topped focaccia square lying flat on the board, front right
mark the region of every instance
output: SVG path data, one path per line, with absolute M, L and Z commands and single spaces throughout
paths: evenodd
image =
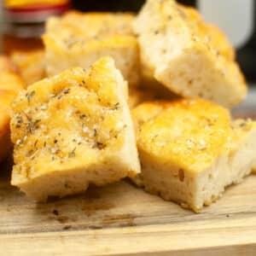
M 241 182 L 256 161 L 256 123 L 203 100 L 148 102 L 133 110 L 142 163 L 135 181 L 195 212 Z

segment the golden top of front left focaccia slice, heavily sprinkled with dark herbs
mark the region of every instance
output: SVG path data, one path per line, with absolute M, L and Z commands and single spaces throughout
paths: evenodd
M 126 86 L 106 57 L 87 72 L 72 68 L 20 92 L 11 116 L 15 179 L 20 179 L 13 183 L 45 170 L 86 168 L 106 155 L 115 157 L 129 126 L 124 119 Z

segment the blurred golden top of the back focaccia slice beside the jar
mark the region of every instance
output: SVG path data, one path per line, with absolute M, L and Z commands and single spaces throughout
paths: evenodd
M 131 14 L 68 12 L 61 18 L 50 18 L 44 39 L 54 38 L 67 48 L 112 36 L 131 36 Z

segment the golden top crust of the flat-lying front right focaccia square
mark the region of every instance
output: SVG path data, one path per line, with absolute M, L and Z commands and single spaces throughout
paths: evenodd
M 228 154 L 239 137 L 234 140 L 235 134 L 241 134 L 233 132 L 226 109 L 199 99 L 146 102 L 132 113 L 138 148 L 190 172 L 205 170 Z

